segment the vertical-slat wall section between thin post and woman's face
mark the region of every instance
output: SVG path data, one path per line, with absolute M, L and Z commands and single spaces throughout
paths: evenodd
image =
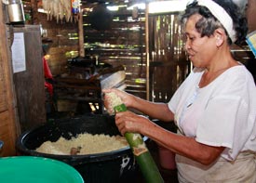
M 149 16 L 150 99 L 168 102 L 190 72 L 177 13 Z

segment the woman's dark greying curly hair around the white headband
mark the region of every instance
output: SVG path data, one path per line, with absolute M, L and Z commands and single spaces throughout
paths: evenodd
M 240 45 L 245 41 L 245 37 L 248 33 L 247 19 L 236 6 L 232 0 L 213 0 L 215 3 L 220 5 L 227 14 L 233 20 L 234 30 L 236 31 L 236 45 Z M 224 29 L 222 23 L 217 20 L 209 11 L 207 7 L 200 7 L 197 5 L 197 1 L 187 5 L 185 12 L 182 14 L 182 23 L 185 23 L 192 15 L 199 14 L 202 16 L 202 19 L 198 20 L 195 23 L 195 29 L 198 33 L 201 33 L 201 36 L 210 36 L 218 28 Z M 224 29 L 225 30 L 225 29 Z M 228 33 L 225 30 L 225 33 Z M 229 37 L 228 43 L 231 45 L 232 40 Z

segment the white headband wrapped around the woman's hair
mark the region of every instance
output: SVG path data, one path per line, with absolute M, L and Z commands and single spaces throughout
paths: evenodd
M 233 28 L 233 20 L 223 7 L 212 0 L 197 0 L 197 2 L 199 6 L 209 8 L 211 14 L 222 23 L 232 42 L 236 42 L 236 31 Z

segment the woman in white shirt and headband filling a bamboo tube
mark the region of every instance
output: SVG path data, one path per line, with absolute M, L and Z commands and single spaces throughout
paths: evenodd
M 182 15 L 185 48 L 195 69 L 168 104 L 115 92 L 128 108 L 161 121 L 171 133 L 131 111 L 115 115 L 119 131 L 138 132 L 176 153 L 180 182 L 256 182 L 256 88 L 233 59 L 232 43 L 247 33 L 246 19 L 231 0 L 198 0 Z M 105 101 L 108 107 L 108 101 Z

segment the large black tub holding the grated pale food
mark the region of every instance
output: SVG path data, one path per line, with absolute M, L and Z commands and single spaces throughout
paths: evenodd
M 74 166 L 87 183 L 126 182 L 134 177 L 134 174 L 138 174 L 138 166 L 129 147 L 88 155 L 56 155 L 35 151 L 47 140 L 57 141 L 61 136 L 70 139 L 85 132 L 120 135 L 114 117 L 84 115 L 55 120 L 21 134 L 17 140 L 17 149 L 22 155 L 47 157 L 68 163 Z

